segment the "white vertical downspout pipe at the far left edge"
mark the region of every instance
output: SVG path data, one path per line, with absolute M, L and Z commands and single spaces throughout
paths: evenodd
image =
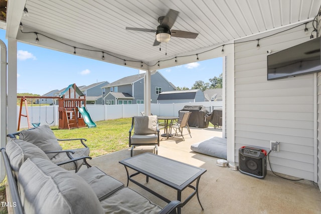
M 6 44 L 0 40 L 1 47 L 1 85 L 0 85 L 0 138 L 1 138 L 1 147 L 5 147 L 7 144 L 7 47 Z M 5 165 L 3 159 L 0 160 L 0 182 L 3 181 L 6 177 Z

